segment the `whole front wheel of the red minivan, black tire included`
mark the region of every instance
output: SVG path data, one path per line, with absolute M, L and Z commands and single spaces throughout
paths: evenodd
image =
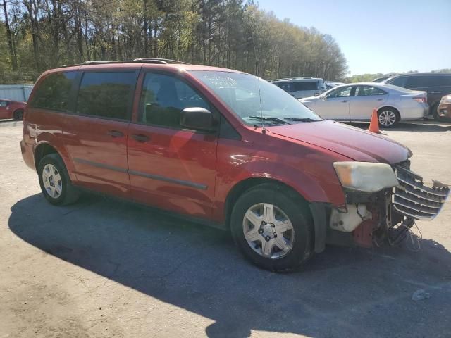
M 273 225 L 264 224 L 271 214 L 265 215 L 264 210 L 271 211 L 271 206 L 276 216 Z M 244 256 L 260 268 L 276 272 L 298 270 L 313 256 L 313 229 L 306 202 L 276 184 L 247 190 L 237 199 L 230 217 L 233 239 Z M 264 255 L 264 248 L 271 250 Z

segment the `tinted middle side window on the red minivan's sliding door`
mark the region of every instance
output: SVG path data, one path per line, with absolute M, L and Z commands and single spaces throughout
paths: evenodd
M 135 72 L 83 74 L 77 113 L 128 120 L 135 82 Z

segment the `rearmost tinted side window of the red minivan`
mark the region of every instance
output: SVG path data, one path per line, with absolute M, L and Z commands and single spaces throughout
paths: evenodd
M 33 95 L 31 106 L 54 111 L 66 111 L 75 74 L 76 72 L 63 72 L 44 77 Z

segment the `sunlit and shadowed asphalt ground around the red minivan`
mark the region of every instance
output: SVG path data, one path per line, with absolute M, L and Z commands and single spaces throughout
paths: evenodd
M 269 273 L 219 230 L 99 196 L 51 206 L 21 134 L 0 121 L 0 338 L 451 337 L 450 201 L 417 223 L 418 252 L 329 246 L 300 273 Z M 385 134 L 451 184 L 451 124 Z M 418 289 L 430 298 L 412 301 Z

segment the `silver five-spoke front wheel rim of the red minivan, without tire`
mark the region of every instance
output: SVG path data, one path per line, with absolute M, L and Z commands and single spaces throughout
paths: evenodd
M 282 258 L 292 251 L 295 230 L 278 206 L 254 204 L 247 209 L 242 227 L 247 244 L 264 258 Z

